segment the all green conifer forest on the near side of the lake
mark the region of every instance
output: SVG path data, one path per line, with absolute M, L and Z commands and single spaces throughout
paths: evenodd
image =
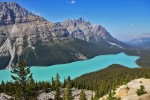
M 0 84 L 0 93 L 5 93 L 12 96 L 12 100 L 36 100 L 40 93 L 48 93 L 55 91 L 55 100 L 72 100 L 71 89 L 82 89 L 80 100 L 86 100 L 83 89 L 93 90 L 95 96 L 91 100 L 97 100 L 105 94 L 110 94 L 109 98 L 114 98 L 111 90 L 116 87 L 126 84 L 136 78 L 150 78 L 149 68 L 127 68 L 121 65 L 113 64 L 102 70 L 84 74 L 74 80 L 68 76 L 64 82 L 60 82 L 59 74 L 55 78 L 51 78 L 51 82 L 36 82 L 30 67 L 25 67 L 23 61 L 18 63 L 18 66 L 12 69 L 13 82 Z M 61 89 L 64 89 L 62 93 Z M 141 93 L 141 92 L 140 92 Z

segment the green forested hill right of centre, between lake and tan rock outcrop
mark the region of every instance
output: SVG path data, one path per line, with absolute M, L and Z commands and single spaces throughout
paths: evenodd
M 127 68 L 113 64 L 102 70 L 84 74 L 73 80 L 74 87 L 94 90 L 96 97 L 102 97 L 110 90 L 137 78 L 150 78 L 150 68 Z

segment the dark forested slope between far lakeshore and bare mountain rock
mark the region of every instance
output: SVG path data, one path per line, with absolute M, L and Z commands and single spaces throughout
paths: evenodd
M 35 49 L 31 47 L 25 48 L 20 58 L 23 57 L 27 66 L 47 66 L 69 63 L 82 60 L 82 58 L 89 59 L 97 55 L 119 53 L 121 51 L 122 49 L 113 46 L 109 47 L 79 39 L 70 39 L 58 43 L 38 44 Z M 16 59 L 18 58 L 16 57 Z

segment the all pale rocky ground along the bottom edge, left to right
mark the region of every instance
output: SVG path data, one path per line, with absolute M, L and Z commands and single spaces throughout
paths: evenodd
M 143 85 L 145 87 L 145 94 L 140 96 L 137 95 L 137 89 L 140 89 L 140 86 Z M 61 90 L 62 94 L 64 89 Z M 72 95 L 74 100 L 79 100 L 81 89 L 72 88 Z M 49 93 L 41 93 L 37 100 L 54 100 L 55 91 L 51 91 Z M 93 91 L 85 90 L 87 100 L 91 100 L 91 96 L 95 95 Z M 119 88 L 115 90 L 116 98 L 119 100 L 150 100 L 150 79 L 140 78 L 130 81 L 126 85 L 121 85 Z M 0 100 L 9 100 L 11 96 L 1 93 Z M 107 100 L 108 95 L 103 96 L 99 100 Z

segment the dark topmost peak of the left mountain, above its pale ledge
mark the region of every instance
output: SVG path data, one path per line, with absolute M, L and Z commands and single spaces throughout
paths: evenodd
M 28 22 L 39 17 L 16 2 L 0 2 L 0 25 Z

